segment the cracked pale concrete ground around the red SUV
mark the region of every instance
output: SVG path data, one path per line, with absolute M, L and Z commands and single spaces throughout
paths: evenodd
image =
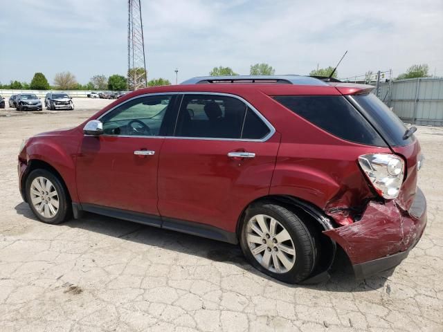
M 365 282 L 338 259 L 328 282 L 297 286 L 226 243 L 94 214 L 37 221 L 17 188 L 20 142 L 93 108 L 0 112 L 0 331 L 443 331 L 443 128 L 417 132 L 428 226 L 408 258 Z

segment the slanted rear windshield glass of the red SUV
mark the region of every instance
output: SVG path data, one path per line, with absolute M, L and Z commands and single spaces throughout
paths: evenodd
M 414 136 L 403 139 L 406 125 L 399 117 L 377 98 L 373 93 L 368 95 L 353 95 L 354 99 L 365 112 L 366 118 L 383 135 L 391 147 L 402 147 L 414 140 Z

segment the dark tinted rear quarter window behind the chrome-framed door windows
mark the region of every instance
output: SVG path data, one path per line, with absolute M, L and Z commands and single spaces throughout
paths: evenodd
M 342 96 L 277 96 L 280 102 L 302 118 L 343 140 L 386 147 L 371 124 Z

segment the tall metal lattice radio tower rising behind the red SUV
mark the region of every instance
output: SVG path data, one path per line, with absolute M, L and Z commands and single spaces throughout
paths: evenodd
M 141 4 L 140 0 L 128 0 L 127 5 L 127 88 L 136 90 L 147 86 Z

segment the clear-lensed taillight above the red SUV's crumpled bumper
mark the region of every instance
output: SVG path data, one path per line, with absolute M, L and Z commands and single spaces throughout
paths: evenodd
M 359 164 L 377 193 L 384 199 L 399 196 L 404 178 L 404 161 L 395 154 L 363 154 Z

